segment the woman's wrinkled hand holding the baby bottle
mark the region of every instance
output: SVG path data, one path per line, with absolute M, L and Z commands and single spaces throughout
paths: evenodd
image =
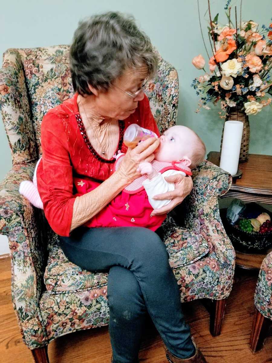
M 160 140 L 151 137 L 139 143 L 134 149 L 128 148 L 128 151 L 118 168 L 121 177 L 124 178 L 127 183 L 131 183 L 141 176 L 139 164 L 142 162 L 151 163 L 154 159 L 154 151 L 159 145 Z

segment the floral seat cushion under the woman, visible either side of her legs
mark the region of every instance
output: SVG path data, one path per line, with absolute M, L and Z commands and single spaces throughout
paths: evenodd
M 197 231 L 186 231 L 168 217 L 162 224 L 162 238 L 172 268 L 191 264 L 209 252 L 208 244 Z M 107 284 L 107 273 L 93 273 L 67 260 L 57 242 L 49 245 L 44 282 L 48 291 L 82 291 Z

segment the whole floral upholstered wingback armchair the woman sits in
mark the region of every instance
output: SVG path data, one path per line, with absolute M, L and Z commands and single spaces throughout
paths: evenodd
M 13 159 L 12 170 L 0 185 L 0 233 L 9 240 L 13 306 L 36 362 L 49 362 L 46 348 L 51 340 L 107 325 L 109 319 L 107 273 L 88 272 L 68 261 L 43 212 L 18 193 L 20 182 L 32 179 L 42 154 L 43 116 L 73 95 L 68 52 L 66 45 L 9 49 L 0 71 L 0 106 Z M 173 126 L 178 76 L 161 57 L 145 93 L 160 131 Z M 218 335 L 235 260 L 219 216 L 218 197 L 230 188 L 231 176 L 204 161 L 193 171 L 193 180 L 193 191 L 182 203 L 182 223 L 169 216 L 161 234 L 181 300 L 213 299 L 211 333 Z

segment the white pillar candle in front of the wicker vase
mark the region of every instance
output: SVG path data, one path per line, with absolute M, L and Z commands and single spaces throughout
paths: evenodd
M 224 126 L 220 167 L 231 175 L 237 174 L 243 134 L 243 122 L 226 121 Z

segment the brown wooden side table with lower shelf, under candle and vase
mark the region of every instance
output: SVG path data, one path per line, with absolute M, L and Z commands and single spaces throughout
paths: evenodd
M 220 152 L 210 151 L 207 160 L 219 166 Z M 246 163 L 239 164 L 241 179 L 232 182 L 222 197 L 234 197 L 244 201 L 272 204 L 272 156 L 249 154 Z M 261 262 L 272 248 L 261 253 L 243 253 L 236 250 L 236 265 L 246 269 L 260 269 Z

